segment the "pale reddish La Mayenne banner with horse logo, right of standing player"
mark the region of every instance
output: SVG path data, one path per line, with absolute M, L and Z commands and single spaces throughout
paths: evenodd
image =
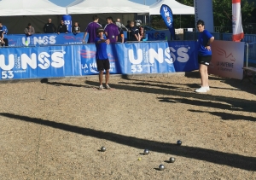
M 208 72 L 225 78 L 242 79 L 244 42 L 232 41 L 212 42 L 212 61 Z

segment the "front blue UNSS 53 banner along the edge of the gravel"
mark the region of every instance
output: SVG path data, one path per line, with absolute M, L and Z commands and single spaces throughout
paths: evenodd
M 195 41 L 109 44 L 110 73 L 174 73 L 198 69 Z M 95 44 L 3 48 L 0 79 L 97 74 Z

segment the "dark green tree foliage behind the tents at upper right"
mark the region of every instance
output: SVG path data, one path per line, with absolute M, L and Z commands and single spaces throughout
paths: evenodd
M 194 0 L 176 0 L 185 5 L 194 6 Z M 232 26 L 232 0 L 212 0 L 214 26 Z M 241 0 L 241 20 L 242 24 L 253 22 L 253 9 L 255 4 Z M 173 15 L 175 28 L 195 27 L 195 15 Z M 164 21 L 160 15 L 151 16 L 151 26 L 155 29 L 166 29 Z

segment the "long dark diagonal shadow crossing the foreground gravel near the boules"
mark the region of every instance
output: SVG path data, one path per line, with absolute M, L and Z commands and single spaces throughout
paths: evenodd
M 134 136 L 124 136 L 115 134 L 113 132 L 96 131 L 90 128 L 67 125 L 44 119 L 30 118 L 12 113 L 0 113 L 0 115 L 3 117 L 7 117 L 9 119 L 17 119 L 29 123 L 35 123 L 38 125 L 49 126 L 61 131 L 69 131 L 84 136 L 92 136 L 99 139 L 105 139 L 111 142 L 116 142 L 133 148 L 144 149 L 145 147 L 147 147 L 151 151 L 159 153 L 175 154 L 186 158 L 205 160 L 207 162 L 212 162 L 218 165 L 229 165 L 231 167 L 236 167 L 247 171 L 256 171 L 255 157 L 247 157 L 240 154 L 223 153 L 206 148 L 177 146 L 176 144 L 173 143 L 155 142 L 147 139 L 137 138 Z

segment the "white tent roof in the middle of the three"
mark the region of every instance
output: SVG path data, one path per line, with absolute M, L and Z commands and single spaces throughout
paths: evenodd
M 67 14 L 149 13 L 149 6 L 128 0 L 77 0 L 67 6 Z

